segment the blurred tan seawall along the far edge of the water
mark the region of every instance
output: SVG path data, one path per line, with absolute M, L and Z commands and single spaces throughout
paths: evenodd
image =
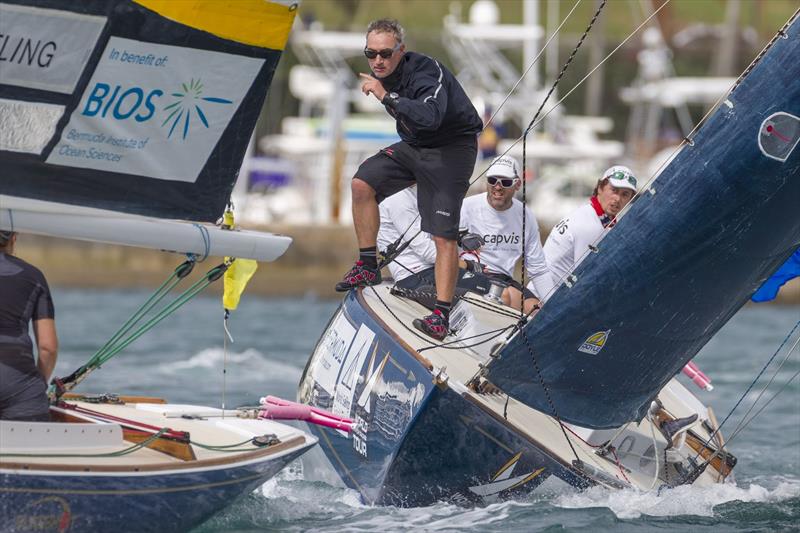
M 287 226 L 262 228 L 293 238 L 283 257 L 259 264 L 249 294 L 265 297 L 314 296 L 338 299 L 333 286 L 352 265 L 356 242 L 350 226 Z M 182 263 L 184 256 L 126 246 L 21 235 L 16 254 L 44 272 L 50 285 L 66 288 L 155 288 Z M 195 267 L 197 279 L 222 261 L 209 257 Z M 222 284 L 209 287 L 221 294 Z M 787 283 L 778 304 L 800 304 L 800 278 Z

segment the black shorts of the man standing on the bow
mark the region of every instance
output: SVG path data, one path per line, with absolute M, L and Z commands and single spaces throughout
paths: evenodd
M 355 177 L 375 189 L 378 203 L 416 183 L 422 231 L 455 240 L 477 154 L 471 135 L 436 148 L 399 142 L 361 163 Z

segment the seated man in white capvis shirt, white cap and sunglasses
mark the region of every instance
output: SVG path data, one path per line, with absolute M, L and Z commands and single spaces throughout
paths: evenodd
M 542 252 L 536 217 L 514 198 L 521 184 L 519 165 L 513 157 L 502 156 L 492 163 L 486 171 L 486 193 L 466 198 L 461 206 L 461 227 L 481 235 L 485 243 L 479 251 L 462 254 L 462 259 L 476 261 L 486 276 L 508 284 L 502 296 L 506 305 L 519 309 L 524 295 L 524 310 L 529 313 L 549 296 L 554 284 Z M 523 242 L 525 269 L 530 278 L 525 288 L 514 279 Z

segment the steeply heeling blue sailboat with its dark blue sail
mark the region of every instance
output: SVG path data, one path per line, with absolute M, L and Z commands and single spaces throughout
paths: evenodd
M 342 482 L 418 506 L 731 479 L 674 376 L 800 246 L 799 58 L 795 13 L 530 319 L 467 293 L 436 343 L 391 283 L 349 292 L 298 391 L 354 420 L 312 429 Z

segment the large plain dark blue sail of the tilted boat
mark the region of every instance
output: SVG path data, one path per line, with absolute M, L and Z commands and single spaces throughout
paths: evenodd
M 640 420 L 800 246 L 799 34 L 795 14 L 596 253 L 587 251 L 574 278 L 491 362 L 492 383 L 580 426 Z

